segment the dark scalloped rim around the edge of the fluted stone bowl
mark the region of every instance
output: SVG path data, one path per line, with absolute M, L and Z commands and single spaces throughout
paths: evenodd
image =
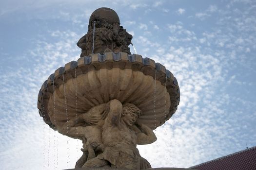
M 146 76 L 151 76 L 153 80 L 159 81 L 159 83 L 166 88 L 170 96 L 169 112 L 164 118 L 157 118 L 158 124 L 151 126 L 151 129 L 156 129 L 158 126 L 161 126 L 176 112 L 180 97 L 179 86 L 177 79 L 169 70 L 165 69 L 161 64 L 155 63 L 154 60 L 142 58 L 142 56 L 138 54 L 129 55 L 126 52 L 107 52 L 104 54 L 92 54 L 88 57 L 81 57 L 78 61 L 71 61 L 64 67 L 58 68 L 54 74 L 49 76 L 41 86 L 38 95 L 39 114 L 45 123 L 52 129 L 57 130 L 49 116 L 48 102 L 52 102 L 50 97 L 53 95 L 54 88 L 58 89 L 59 86 L 63 85 L 63 77 L 64 83 L 66 83 L 69 79 L 73 79 L 81 74 L 87 74 L 92 70 L 97 71 L 101 68 L 132 69 L 132 71 L 140 71 Z

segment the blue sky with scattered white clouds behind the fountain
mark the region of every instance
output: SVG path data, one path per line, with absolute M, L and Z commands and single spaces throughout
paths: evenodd
M 114 9 L 137 53 L 180 86 L 157 142 L 138 146 L 152 167 L 188 168 L 256 146 L 255 0 L 1 0 L 1 169 L 74 167 L 81 142 L 42 121 L 37 96 L 51 73 L 79 58 L 76 43 L 99 7 Z

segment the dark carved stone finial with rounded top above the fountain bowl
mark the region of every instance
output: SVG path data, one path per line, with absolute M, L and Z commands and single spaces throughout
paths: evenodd
M 82 49 L 80 57 L 111 51 L 131 54 L 129 45 L 132 38 L 133 36 L 120 26 L 117 13 L 104 7 L 92 13 L 88 32 L 79 39 L 77 45 Z

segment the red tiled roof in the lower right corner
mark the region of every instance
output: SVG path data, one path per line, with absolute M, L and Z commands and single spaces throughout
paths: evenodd
M 256 170 L 256 146 L 190 168 L 197 170 Z

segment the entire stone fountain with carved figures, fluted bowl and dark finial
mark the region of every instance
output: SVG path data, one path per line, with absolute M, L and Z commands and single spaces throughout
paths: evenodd
M 77 43 L 80 58 L 58 68 L 39 90 L 44 122 L 83 143 L 76 169 L 151 168 L 136 146 L 155 142 L 153 130 L 177 110 L 176 78 L 131 54 L 131 40 L 114 10 L 95 10 Z

